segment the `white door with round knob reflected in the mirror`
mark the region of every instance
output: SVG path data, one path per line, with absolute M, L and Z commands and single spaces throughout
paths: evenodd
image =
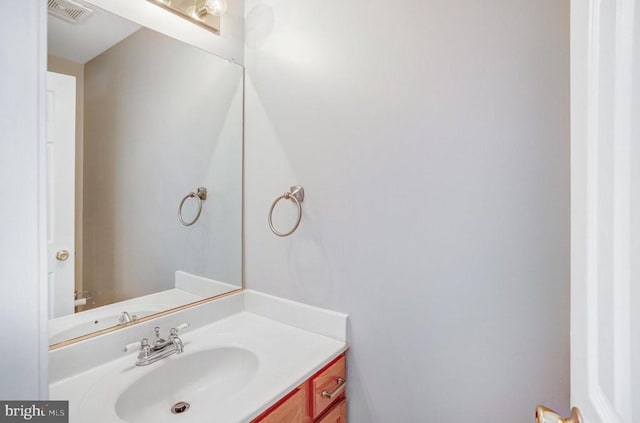
M 49 318 L 73 313 L 76 78 L 47 72 Z

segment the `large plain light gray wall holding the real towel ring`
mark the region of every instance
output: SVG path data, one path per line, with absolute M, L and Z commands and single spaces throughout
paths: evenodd
M 569 1 L 246 19 L 247 287 L 351 315 L 352 421 L 567 410 Z M 280 239 L 292 184 L 304 220 Z

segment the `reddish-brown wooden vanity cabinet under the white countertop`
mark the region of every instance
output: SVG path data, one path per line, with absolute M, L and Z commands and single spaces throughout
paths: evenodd
M 252 423 L 347 423 L 344 354 L 285 395 Z

